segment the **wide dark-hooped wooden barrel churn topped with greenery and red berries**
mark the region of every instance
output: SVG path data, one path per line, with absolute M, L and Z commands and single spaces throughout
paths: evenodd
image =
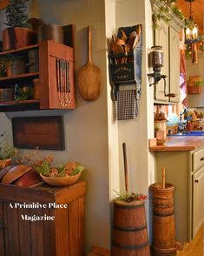
M 144 203 L 114 203 L 113 256 L 149 256 Z

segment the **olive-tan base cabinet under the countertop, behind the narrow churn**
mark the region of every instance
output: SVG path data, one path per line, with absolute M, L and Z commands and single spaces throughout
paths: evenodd
M 166 182 L 174 185 L 175 234 L 179 241 L 194 239 L 204 221 L 204 148 L 192 152 L 156 152 L 156 182 L 166 167 Z

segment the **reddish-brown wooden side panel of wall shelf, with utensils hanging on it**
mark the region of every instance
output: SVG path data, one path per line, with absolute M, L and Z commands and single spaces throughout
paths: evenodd
M 52 40 L 41 42 L 39 70 L 40 108 L 75 109 L 73 48 Z

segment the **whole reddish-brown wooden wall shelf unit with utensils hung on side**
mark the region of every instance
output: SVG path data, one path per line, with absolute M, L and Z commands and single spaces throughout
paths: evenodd
M 74 37 L 73 25 L 69 25 L 69 45 L 52 40 L 30 45 L 17 50 L 0 52 L 3 56 L 28 55 L 30 51 L 39 53 L 39 71 L 28 72 L 10 77 L 0 77 L 0 89 L 15 88 L 16 84 L 31 84 L 39 78 L 39 98 L 27 100 L 0 101 L 0 111 L 27 111 L 36 109 L 75 109 L 74 80 Z M 68 26 L 68 27 L 69 27 Z

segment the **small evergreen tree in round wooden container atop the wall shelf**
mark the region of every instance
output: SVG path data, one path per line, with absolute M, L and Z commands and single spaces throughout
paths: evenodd
M 3 30 L 3 51 L 18 49 L 26 45 L 36 44 L 36 31 L 28 28 L 28 8 L 25 0 L 10 0 L 6 9 Z

